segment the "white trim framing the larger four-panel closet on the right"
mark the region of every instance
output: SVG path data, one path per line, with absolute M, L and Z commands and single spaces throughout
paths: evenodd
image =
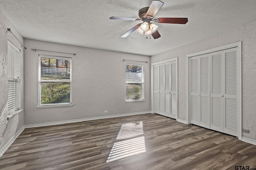
M 212 53 L 216 51 L 221 51 L 225 49 L 230 49 L 238 47 L 238 139 L 242 140 L 242 41 L 239 41 L 237 43 L 232 43 L 228 45 L 224 45 L 221 47 L 216 47 L 213 49 L 208 49 L 205 51 L 200 51 L 192 54 L 186 55 L 186 123 L 190 123 L 190 116 L 189 116 L 189 58 L 194 57 L 197 55 L 203 55 L 207 53 Z

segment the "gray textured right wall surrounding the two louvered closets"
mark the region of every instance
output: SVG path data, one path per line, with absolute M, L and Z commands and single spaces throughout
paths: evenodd
M 242 41 L 242 128 L 256 140 L 256 22 L 151 57 L 151 63 L 178 57 L 178 119 L 186 120 L 186 55 Z

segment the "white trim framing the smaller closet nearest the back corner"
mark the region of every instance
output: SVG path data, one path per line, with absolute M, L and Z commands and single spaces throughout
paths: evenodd
M 176 120 L 178 120 L 178 57 L 172 58 L 172 59 L 168 59 L 168 60 L 164 60 L 164 61 L 158 61 L 156 63 L 151 63 L 151 110 L 152 113 L 154 113 L 154 65 L 156 64 L 163 64 L 163 63 L 167 63 L 167 62 L 171 62 L 171 61 L 176 61 L 177 66 L 176 66 L 176 90 L 177 90 L 177 118 Z

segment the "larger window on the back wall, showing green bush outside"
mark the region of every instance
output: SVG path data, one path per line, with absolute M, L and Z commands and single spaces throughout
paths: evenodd
M 39 55 L 39 108 L 72 106 L 71 58 Z

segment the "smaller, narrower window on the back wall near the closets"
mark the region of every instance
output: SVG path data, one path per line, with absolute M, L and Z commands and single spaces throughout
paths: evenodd
M 144 101 L 144 66 L 126 64 L 126 102 Z

